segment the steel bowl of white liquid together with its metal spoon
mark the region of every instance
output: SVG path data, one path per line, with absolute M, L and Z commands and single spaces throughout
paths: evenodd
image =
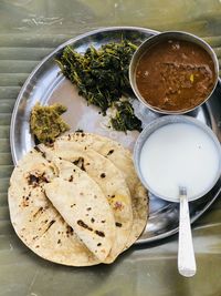
M 221 146 L 212 130 L 186 115 L 152 121 L 140 133 L 134 163 L 144 184 L 157 197 L 180 203 L 178 269 L 196 274 L 189 202 L 206 195 L 221 175 Z

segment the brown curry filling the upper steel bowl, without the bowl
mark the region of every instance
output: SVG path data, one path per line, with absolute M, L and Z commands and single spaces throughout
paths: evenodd
M 206 50 L 181 40 L 152 45 L 136 69 L 139 93 L 155 110 L 187 111 L 201 104 L 214 86 L 214 65 Z

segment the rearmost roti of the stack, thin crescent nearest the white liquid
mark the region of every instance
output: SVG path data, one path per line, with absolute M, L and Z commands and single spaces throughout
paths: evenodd
M 91 147 L 101 155 L 110 160 L 118 167 L 129 187 L 133 207 L 133 227 L 128 236 L 126 248 L 143 233 L 148 218 L 148 192 L 140 183 L 133 163 L 131 153 L 123 147 L 116 141 L 92 133 L 76 132 L 61 136 L 56 140 L 57 145 L 61 142 L 77 142 L 84 147 Z

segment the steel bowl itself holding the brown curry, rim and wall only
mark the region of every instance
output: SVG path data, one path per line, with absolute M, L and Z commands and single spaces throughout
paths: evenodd
M 145 52 L 147 52 L 152 45 L 158 44 L 160 42 L 164 42 L 166 40 L 171 40 L 171 39 L 189 41 L 191 43 L 196 43 L 196 44 L 200 45 L 209 53 L 209 55 L 211 57 L 213 64 L 214 64 L 214 74 L 215 74 L 214 86 L 213 86 L 212 91 L 210 92 L 210 94 L 200 104 L 196 105 L 192 109 L 188 109 L 188 110 L 183 110 L 183 111 L 160 110 L 160 109 L 157 109 L 157 108 L 148 104 L 147 101 L 139 93 L 137 85 L 136 85 L 136 68 L 137 68 L 137 64 L 139 62 L 139 59 L 143 57 L 143 54 Z M 181 31 L 168 31 L 168 32 L 162 32 L 162 33 L 150 37 L 149 39 L 144 41 L 141 43 L 141 45 L 139 45 L 139 48 L 136 50 L 136 52 L 134 53 L 134 55 L 131 58 L 130 65 L 129 65 L 129 81 L 130 81 L 130 85 L 131 85 L 131 89 L 133 89 L 135 95 L 148 109 L 150 109 L 154 112 L 161 113 L 161 114 L 185 114 L 185 113 L 189 113 L 189 112 L 196 110 L 198 106 L 203 104 L 211 96 L 212 92 L 214 91 L 214 89 L 217 86 L 218 79 L 219 79 L 219 61 L 218 61 L 218 58 L 217 58 L 213 49 L 206 41 L 203 41 L 201 38 L 193 35 L 191 33 L 181 32 Z

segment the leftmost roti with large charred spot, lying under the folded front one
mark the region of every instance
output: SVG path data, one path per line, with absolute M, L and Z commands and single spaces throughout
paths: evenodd
M 31 150 L 15 166 L 8 194 L 10 218 L 20 239 L 39 256 L 71 266 L 101 261 L 45 196 L 43 186 L 59 176 L 57 169 Z

